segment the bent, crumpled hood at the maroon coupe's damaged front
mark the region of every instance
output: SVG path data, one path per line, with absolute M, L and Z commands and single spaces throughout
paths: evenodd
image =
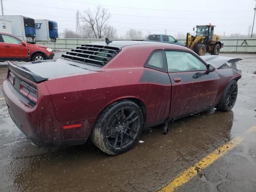
M 242 60 L 241 58 L 224 57 L 218 55 L 206 55 L 200 56 L 207 64 L 214 65 L 217 69 L 224 64 L 236 64 L 236 62 Z

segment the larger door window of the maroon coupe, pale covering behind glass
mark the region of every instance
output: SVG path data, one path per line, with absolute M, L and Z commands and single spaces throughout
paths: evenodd
M 188 52 L 165 51 L 168 72 L 204 71 L 206 65 Z

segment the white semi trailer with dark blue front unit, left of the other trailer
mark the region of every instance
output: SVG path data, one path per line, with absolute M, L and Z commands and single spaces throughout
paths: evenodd
M 36 29 L 35 20 L 32 18 L 19 16 L 19 15 L 0 15 L 1 20 L 8 20 L 12 24 L 12 33 L 18 38 L 35 44 L 36 42 Z

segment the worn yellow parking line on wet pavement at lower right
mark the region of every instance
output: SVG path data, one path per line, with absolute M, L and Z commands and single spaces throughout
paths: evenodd
M 250 129 L 246 130 L 246 133 L 256 131 L 256 125 L 252 126 Z M 178 177 L 172 180 L 167 186 L 159 190 L 158 192 L 174 192 L 177 188 L 188 182 L 194 176 L 197 175 L 202 169 L 207 168 L 214 161 L 218 160 L 226 152 L 230 151 L 236 145 L 244 140 L 241 137 L 236 137 L 234 140 L 222 145 L 220 148 L 214 150 L 208 156 L 204 157 L 202 160 L 198 161 L 196 164 L 182 172 Z

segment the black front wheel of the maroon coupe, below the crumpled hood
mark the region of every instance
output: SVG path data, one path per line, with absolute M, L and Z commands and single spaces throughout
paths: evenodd
M 229 82 L 228 86 L 223 92 L 220 102 L 217 104 L 216 108 L 220 111 L 229 111 L 234 107 L 236 102 L 236 97 L 238 93 L 238 86 L 236 80 Z

